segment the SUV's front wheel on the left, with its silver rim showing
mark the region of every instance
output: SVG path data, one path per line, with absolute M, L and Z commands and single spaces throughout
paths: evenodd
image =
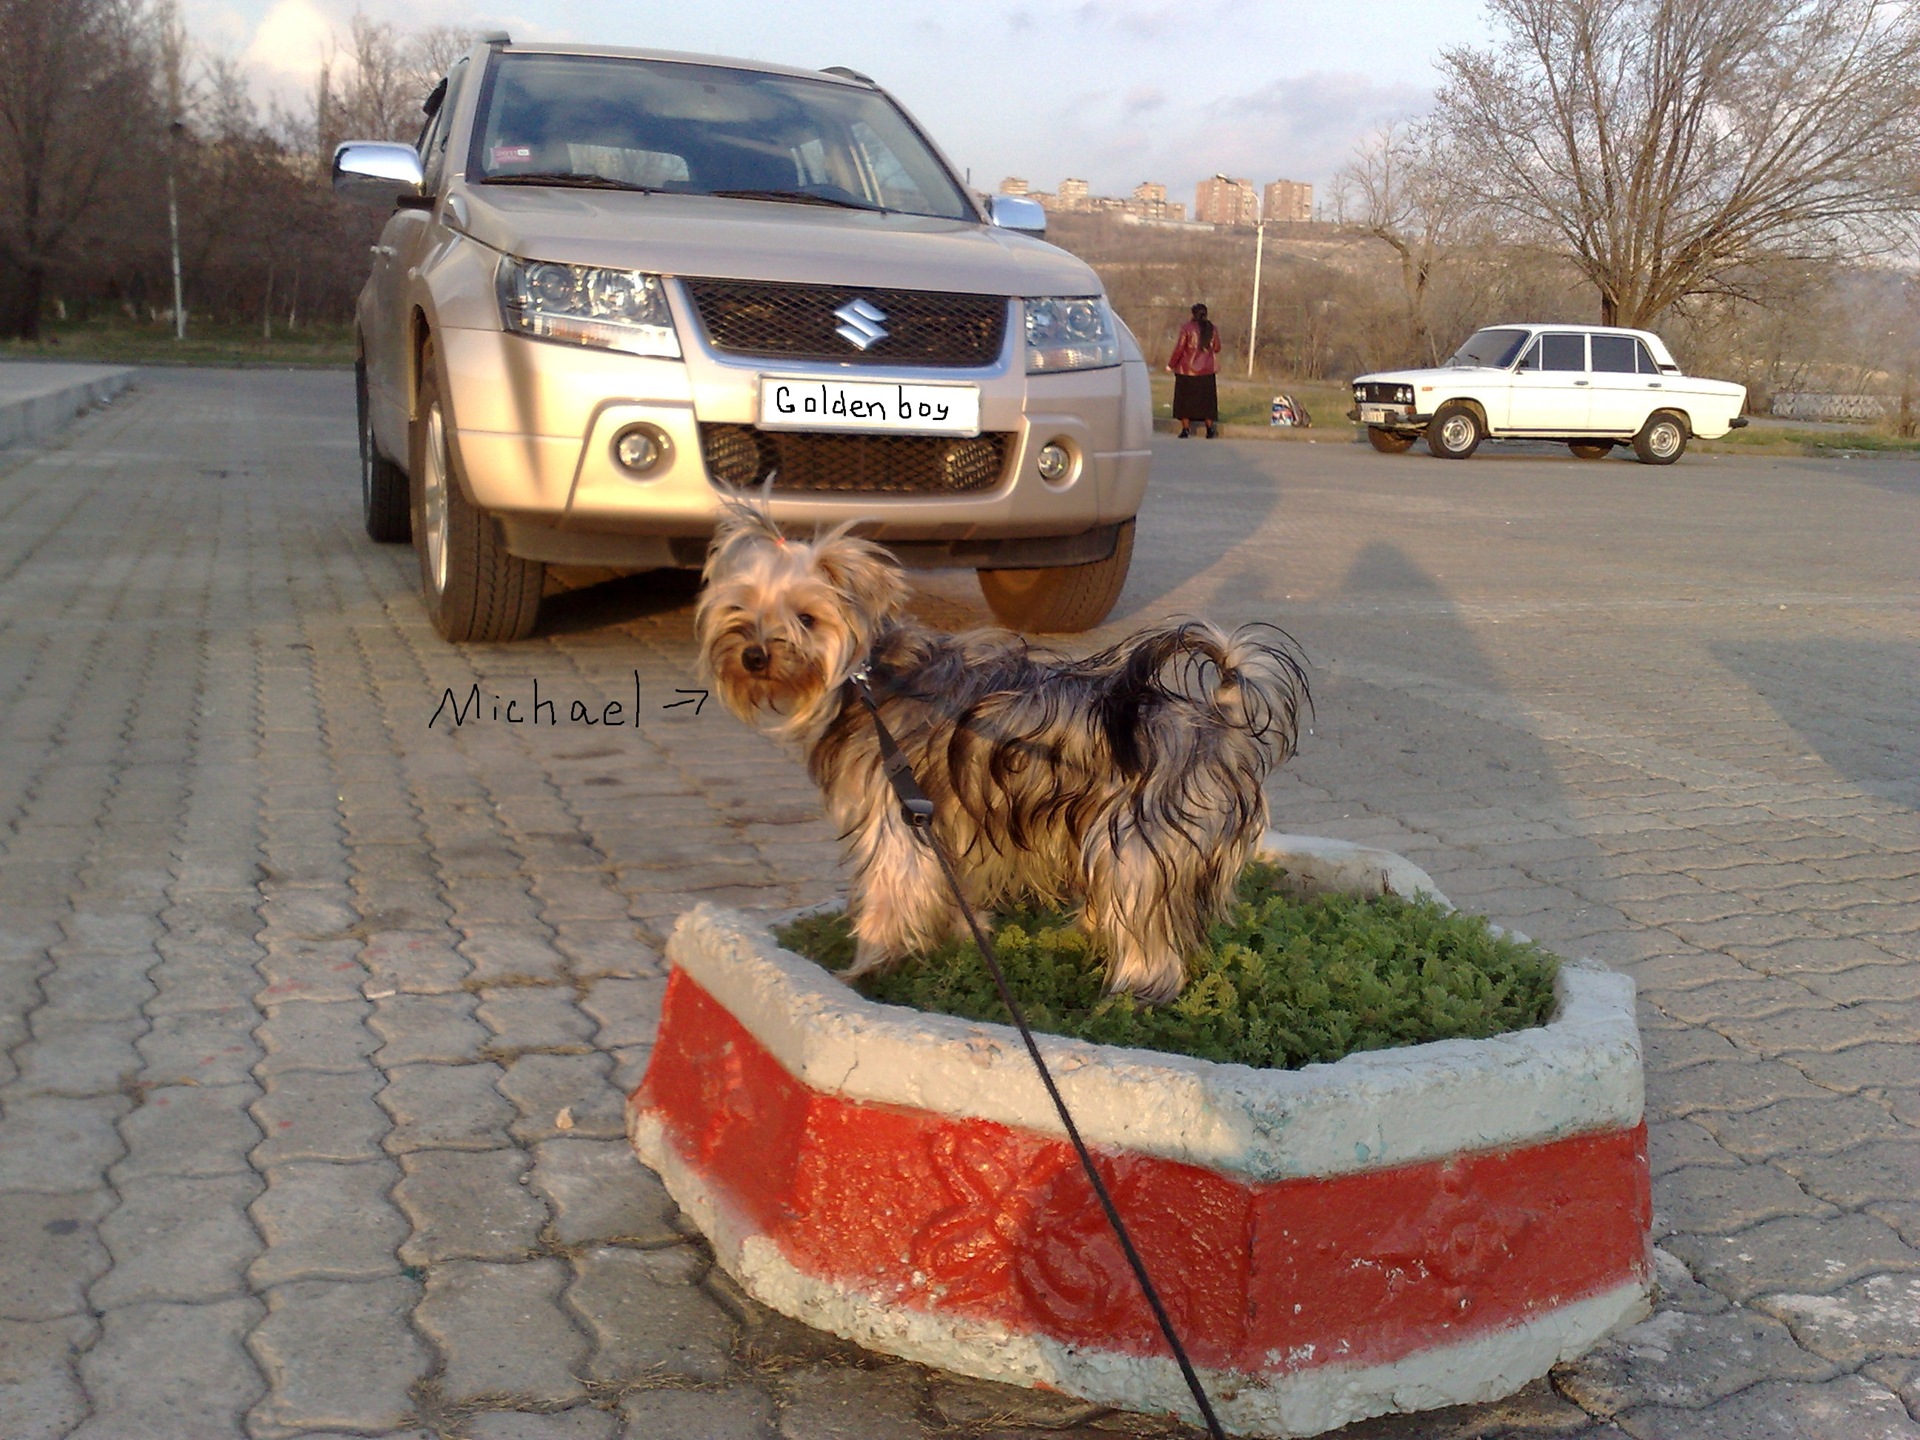
M 420 394 L 409 428 L 413 549 L 420 595 L 442 639 L 526 639 L 540 618 L 547 566 L 509 555 L 493 516 L 467 499 L 447 436 L 440 357 L 420 351 Z

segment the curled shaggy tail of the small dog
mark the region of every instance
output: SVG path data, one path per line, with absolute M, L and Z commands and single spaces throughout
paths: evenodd
M 1294 755 L 1300 710 L 1313 710 L 1300 645 L 1271 624 L 1240 626 L 1229 636 L 1206 620 L 1187 620 L 1139 636 L 1110 703 L 1139 714 L 1142 701 L 1154 699 L 1204 707 L 1221 726 L 1271 745 L 1275 764 Z M 1114 722 L 1121 716 L 1110 716 L 1114 735 L 1133 730 Z

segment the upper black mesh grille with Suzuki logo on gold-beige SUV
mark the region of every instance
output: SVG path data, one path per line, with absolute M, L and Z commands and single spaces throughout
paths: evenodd
M 824 359 L 845 365 L 981 367 L 1000 359 L 1004 296 L 945 296 L 927 290 L 843 290 L 824 284 L 684 280 L 707 340 L 733 355 Z M 835 311 L 866 301 L 885 336 L 860 349 L 841 334 Z M 854 326 L 854 330 L 870 326 Z

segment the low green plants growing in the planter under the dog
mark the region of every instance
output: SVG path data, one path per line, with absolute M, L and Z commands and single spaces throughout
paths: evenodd
M 1538 945 L 1496 937 L 1478 916 L 1434 900 L 1288 895 L 1284 876 L 1265 862 L 1246 868 L 1233 914 L 1164 1006 L 1102 995 L 1102 956 L 1068 912 L 1006 910 L 995 916 L 993 945 L 1037 1031 L 1242 1066 L 1290 1069 L 1551 1016 L 1559 960 Z M 804 916 L 776 939 L 828 970 L 852 964 L 845 914 Z M 972 941 L 862 975 L 856 989 L 881 1004 L 1008 1021 Z

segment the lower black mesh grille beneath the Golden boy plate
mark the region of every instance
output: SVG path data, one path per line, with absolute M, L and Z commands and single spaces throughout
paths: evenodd
M 1006 472 L 1012 436 L 835 436 L 703 424 L 701 453 L 716 484 L 774 492 L 866 495 L 968 495 L 993 490 Z

